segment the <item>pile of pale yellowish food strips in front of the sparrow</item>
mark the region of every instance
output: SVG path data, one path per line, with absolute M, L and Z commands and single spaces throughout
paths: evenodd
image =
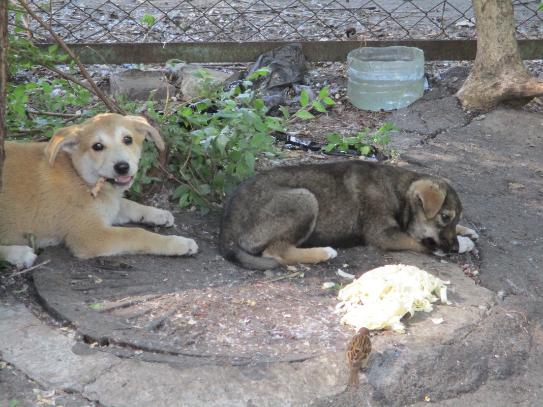
M 449 281 L 428 274 L 415 266 L 392 264 L 365 272 L 351 284 L 339 290 L 341 302 L 336 306 L 344 312 L 341 323 L 368 329 L 402 331 L 400 319 L 415 311 L 430 312 L 432 303 L 447 300 Z M 434 295 L 435 293 L 435 295 Z

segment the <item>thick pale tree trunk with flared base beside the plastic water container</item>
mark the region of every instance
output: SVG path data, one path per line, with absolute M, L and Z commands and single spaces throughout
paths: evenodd
M 532 77 L 520 58 L 511 0 L 473 0 L 477 26 L 475 63 L 456 93 L 471 110 L 500 103 L 522 106 L 543 95 L 543 82 Z

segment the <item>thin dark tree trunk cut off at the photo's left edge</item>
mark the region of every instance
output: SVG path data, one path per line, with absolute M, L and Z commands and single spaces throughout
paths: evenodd
M 5 118 L 5 83 L 8 81 L 8 0 L 0 0 L 0 190 L 4 168 L 4 139 L 7 131 Z

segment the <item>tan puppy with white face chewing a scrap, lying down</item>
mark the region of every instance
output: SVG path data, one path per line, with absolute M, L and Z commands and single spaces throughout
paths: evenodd
M 26 246 L 30 236 L 38 247 L 65 244 L 79 258 L 197 252 L 192 239 L 112 226 L 174 224 L 170 212 L 122 198 L 134 182 L 143 139 L 164 149 L 143 117 L 105 113 L 56 131 L 45 151 L 43 143 L 6 142 L 0 257 L 29 267 L 36 258 Z

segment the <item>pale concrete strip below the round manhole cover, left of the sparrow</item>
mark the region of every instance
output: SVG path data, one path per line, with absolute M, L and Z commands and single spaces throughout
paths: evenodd
M 85 386 L 84 396 L 116 407 L 302 407 L 342 391 L 344 370 L 333 354 L 300 363 L 185 370 L 127 360 Z

